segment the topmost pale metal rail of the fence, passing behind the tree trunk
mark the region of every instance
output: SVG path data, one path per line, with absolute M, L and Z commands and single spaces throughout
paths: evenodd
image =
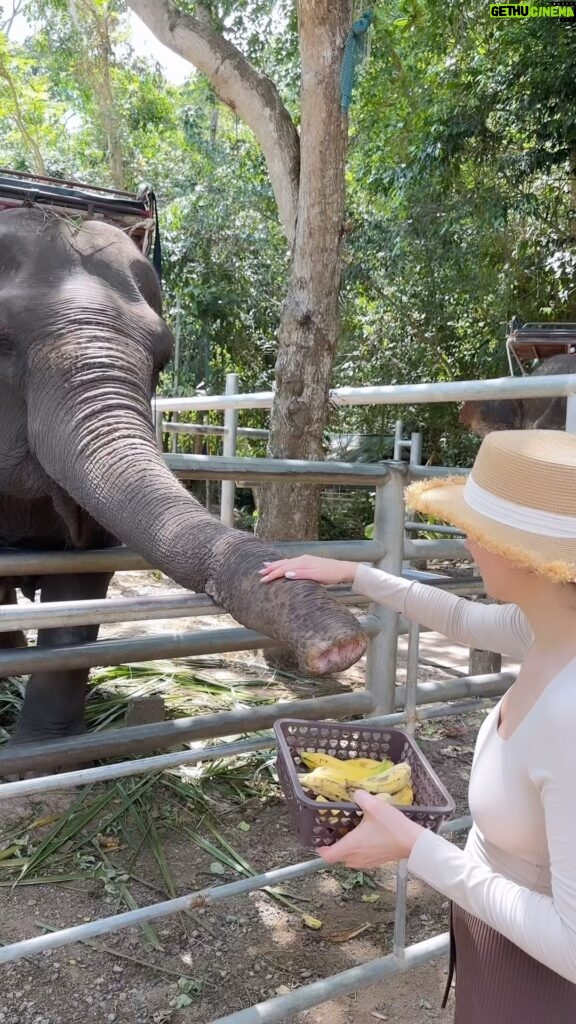
M 480 401 L 485 398 L 535 398 L 576 394 L 571 374 L 553 377 L 498 377 L 482 381 L 437 381 L 430 384 L 387 384 L 339 387 L 330 391 L 334 406 L 418 406 L 442 401 Z M 272 409 L 274 391 L 249 394 L 205 394 L 154 399 L 156 413 L 209 412 L 218 409 Z

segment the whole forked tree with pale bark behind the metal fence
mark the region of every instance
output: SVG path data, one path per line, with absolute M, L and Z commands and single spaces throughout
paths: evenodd
M 347 119 L 340 109 L 340 67 L 353 0 L 298 0 L 299 133 L 276 86 L 222 34 L 230 11 L 218 17 L 201 4 L 187 13 L 172 0 L 128 3 L 161 42 L 207 75 L 218 98 L 237 112 L 261 146 L 291 247 L 270 453 L 276 458 L 321 459 L 339 336 L 347 136 Z M 266 6 L 254 3 L 243 24 L 249 26 L 251 18 L 256 25 Z M 319 502 L 317 488 L 266 487 L 258 531 L 283 539 L 315 537 Z

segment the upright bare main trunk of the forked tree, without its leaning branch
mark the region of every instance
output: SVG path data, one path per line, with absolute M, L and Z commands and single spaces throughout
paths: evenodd
M 288 294 L 276 364 L 269 452 L 322 459 L 332 364 L 339 335 L 338 294 L 344 213 L 347 118 L 340 111 L 340 66 L 351 0 L 299 0 L 301 57 L 300 185 Z M 320 488 L 262 489 L 258 535 L 318 535 Z

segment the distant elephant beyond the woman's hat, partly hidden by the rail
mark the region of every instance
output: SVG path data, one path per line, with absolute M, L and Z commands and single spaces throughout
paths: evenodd
M 576 373 L 576 355 L 552 355 L 534 371 L 534 377 Z M 479 437 L 491 430 L 564 430 L 566 398 L 497 398 L 465 401 L 459 422 Z

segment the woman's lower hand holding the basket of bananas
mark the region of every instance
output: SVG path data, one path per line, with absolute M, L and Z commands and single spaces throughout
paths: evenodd
M 358 868 L 379 867 L 409 857 L 422 826 L 363 790 L 356 791 L 354 800 L 364 811 L 361 823 L 334 846 L 321 846 L 316 852 L 329 864 Z

